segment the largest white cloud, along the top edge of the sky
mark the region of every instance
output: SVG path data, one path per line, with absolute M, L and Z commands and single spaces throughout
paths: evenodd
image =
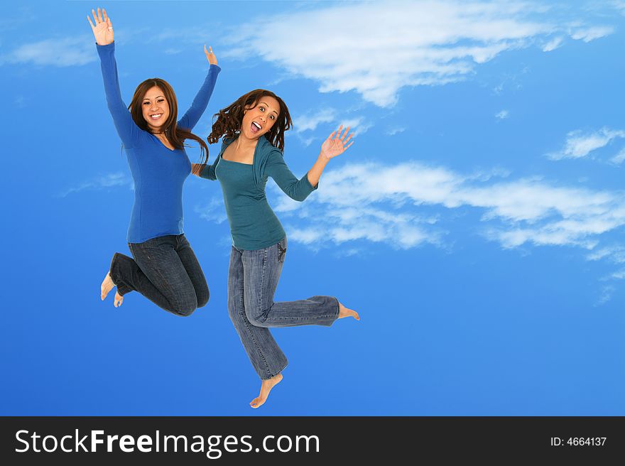
M 558 25 L 544 13 L 519 1 L 338 4 L 237 26 L 224 56 L 258 56 L 320 82 L 320 92 L 356 91 L 388 107 L 402 87 L 463 80 L 506 50 L 557 34 L 588 41 L 612 32 L 607 26 Z M 543 49 L 553 50 L 554 40 Z

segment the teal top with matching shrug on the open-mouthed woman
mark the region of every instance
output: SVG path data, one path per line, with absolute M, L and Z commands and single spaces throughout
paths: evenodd
M 222 154 L 235 139 L 222 141 L 219 156 L 212 165 L 205 166 L 200 176 L 219 180 L 222 185 L 234 247 L 248 251 L 264 249 L 286 236 L 267 202 L 267 178 L 271 176 L 286 195 L 299 201 L 305 200 L 317 187 L 308 181 L 308 173 L 299 180 L 295 178 L 280 149 L 272 146 L 264 136 L 256 143 L 253 163 L 225 160 Z

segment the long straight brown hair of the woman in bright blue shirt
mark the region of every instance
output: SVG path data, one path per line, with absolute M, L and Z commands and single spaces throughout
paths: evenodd
M 163 91 L 165 99 L 167 99 L 167 103 L 169 104 L 169 116 L 167 117 L 165 124 L 162 126 L 165 137 L 176 149 L 188 146 L 185 144 L 185 139 L 193 139 L 194 141 L 200 143 L 200 157 L 202 163 L 206 165 L 208 161 L 208 146 L 205 141 L 200 138 L 200 136 L 195 136 L 195 134 L 188 129 L 180 128 L 178 126 L 176 122 L 178 120 L 178 100 L 175 97 L 172 87 L 167 81 L 161 80 L 161 78 L 158 77 L 152 77 L 149 80 L 141 82 L 141 84 L 137 86 L 134 95 L 132 96 L 130 105 L 128 106 L 136 126 L 143 129 L 143 131 L 152 132 L 148 128 L 148 122 L 143 118 L 141 105 L 143 104 L 143 97 L 146 97 L 146 92 L 155 86 Z

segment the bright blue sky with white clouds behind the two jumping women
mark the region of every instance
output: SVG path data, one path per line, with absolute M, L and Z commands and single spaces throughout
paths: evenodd
M 338 296 L 362 320 L 273 330 L 290 364 L 258 411 L 217 183 L 184 192 L 206 308 L 99 300 L 133 193 L 97 6 L 126 101 L 158 76 L 185 108 L 207 43 L 222 73 L 196 134 L 258 87 L 288 104 L 298 175 L 338 124 L 357 131 L 308 200 L 268 197 L 290 245 L 276 299 Z M 624 29 L 623 1 L 5 7 L 0 413 L 624 415 Z

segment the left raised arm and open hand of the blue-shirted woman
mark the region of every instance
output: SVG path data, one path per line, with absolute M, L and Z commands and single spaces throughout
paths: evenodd
M 113 24 L 107 16 L 107 11 L 98 9 L 97 15 L 92 10 L 95 26 L 87 16 L 97 43 L 97 51 L 102 65 L 102 79 L 104 92 L 107 94 L 107 105 L 113 116 L 117 134 L 124 143 L 124 147 L 132 148 L 141 129 L 136 126 L 126 104 L 121 99 L 119 80 L 117 79 L 117 64 L 115 62 L 115 43 L 113 41 Z M 104 16 L 103 16 L 104 15 Z

